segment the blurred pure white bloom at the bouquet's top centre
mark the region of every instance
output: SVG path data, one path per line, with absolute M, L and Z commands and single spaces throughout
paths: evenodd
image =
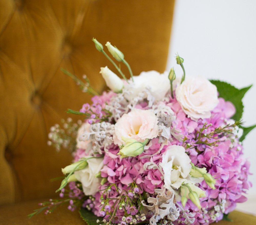
M 135 96 L 138 96 L 141 91 L 146 87 L 151 89 L 151 95 L 155 100 L 163 100 L 166 93 L 170 91 L 170 81 L 168 79 L 168 72 L 163 74 L 158 73 L 157 71 L 148 71 L 142 72 L 138 76 L 133 76 L 134 83 L 131 81 L 131 90 L 132 94 L 127 96 L 130 99 L 133 99 Z

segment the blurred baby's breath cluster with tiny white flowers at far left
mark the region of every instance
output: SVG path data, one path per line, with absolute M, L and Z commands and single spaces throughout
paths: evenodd
M 50 128 L 47 144 L 55 147 L 57 151 L 64 148 L 73 152 L 76 150 L 77 131 L 82 121 L 78 120 L 77 123 L 74 123 L 71 118 L 68 118 L 67 120 L 62 119 L 61 123 L 63 124 L 62 127 L 56 124 Z

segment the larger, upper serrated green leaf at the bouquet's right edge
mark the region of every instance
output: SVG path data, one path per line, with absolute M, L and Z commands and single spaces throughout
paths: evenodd
M 236 107 L 236 113 L 232 117 L 232 119 L 239 121 L 242 118 L 243 114 L 242 98 L 252 85 L 244 87 L 242 89 L 238 89 L 231 84 L 223 81 L 210 80 L 210 82 L 217 87 L 219 97 L 224 98 L 226 101 L 232 102 L 233 105 Z

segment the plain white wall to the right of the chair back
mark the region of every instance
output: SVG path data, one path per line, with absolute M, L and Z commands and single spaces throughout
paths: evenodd
M 177 52 L 187 75 L 227 81 L 238 88 L 253 84 L 243 99 L 243 121 L 245 126 L 256 123 L 256 1 L 176 0 L 166 69 L 174 66 L 176 74 L 182 74 Z M 253 173 L 249 197 L 255 198 L 256 128 L 243 143 Z

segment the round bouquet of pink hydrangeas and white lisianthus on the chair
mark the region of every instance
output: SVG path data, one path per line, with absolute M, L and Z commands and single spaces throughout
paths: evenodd
M 241 122 L 242 98 L 250 87 L 203 77 L 185 77 L 184 59 L 176 56 L 182 76 L 174 69 L 133 76 L 123 53 L 106 47 L 130 72 L 101 68 L 110 91 L 101 95 L 86 76 L 71 76 L 92 104 L 80 111 L 83 121 L 63 121 L 49 133 L 49 145 L 69 148 L 74 162 L 62 169 L 61 199 L 42 202 L 51 213 L 58 205 L 79 208 L 88 225 L 209 224 L 228 219 L 229 212 L 251 187 L 249 162 L 241 141 L 252 127 Z

